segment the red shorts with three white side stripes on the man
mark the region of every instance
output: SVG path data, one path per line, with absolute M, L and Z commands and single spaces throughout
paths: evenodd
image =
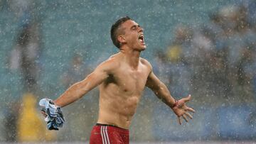
M 92 128 L 90 144 L 129 144 L 129 130 L 97 123 Z

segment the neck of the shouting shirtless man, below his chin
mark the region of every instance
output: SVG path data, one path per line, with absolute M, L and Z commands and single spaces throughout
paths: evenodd
M 140 51 L 125 48 L 121 49 L 120 53 L 124 55 L 124 60 L 127 61 L 128 65 L 131 66 L 132 69 L 137 70 L 139 66 Z

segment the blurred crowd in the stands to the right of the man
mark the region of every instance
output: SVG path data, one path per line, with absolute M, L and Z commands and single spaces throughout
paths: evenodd
M 193 94 L 201 105 L 255 103 L 255 9 L 226 6 L 201 26 L 177 26 L 154 65 L 174 96 Z

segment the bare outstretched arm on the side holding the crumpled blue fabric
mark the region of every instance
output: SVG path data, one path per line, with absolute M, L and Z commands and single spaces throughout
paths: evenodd
M 80 99 L 90 90 L 101 84 L 110 74 L 113 67 L 112 60 L 102 62 L 91 74 L 80 82 L 73 84 L 58 99 L 55 99 L 54 104 L 63 107 Z

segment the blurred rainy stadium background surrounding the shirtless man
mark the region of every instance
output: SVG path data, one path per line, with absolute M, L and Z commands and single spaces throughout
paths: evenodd
M 145 89 L 132 143 L 255 143 L 255 0 L 0 0 L 0 142 L 87 143 L 98 90 L 46 131 L 38 99 L 55 99 L 117 48 L 110 26 L 130 16 L 144 28 L 142 57 L 178 98 L 192 94 L 190 123 Z

